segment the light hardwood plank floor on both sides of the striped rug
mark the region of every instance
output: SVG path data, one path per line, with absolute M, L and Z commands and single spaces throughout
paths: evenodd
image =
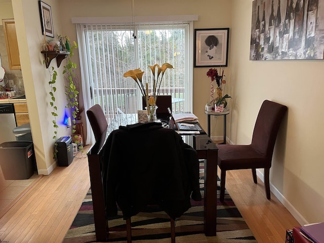
M 20 198 L 0 219 L 0 239 L 62 242 L 89 188 L 88 160 L 83 154 L 70 166 L 43 176 Z M 254 184 L 250 170 L 227 172 L 226 189 L 259 243 L 283 243 L 286 229 L 299 226 L 273 194 L 266 199 L 263 183 L 258 179 Z

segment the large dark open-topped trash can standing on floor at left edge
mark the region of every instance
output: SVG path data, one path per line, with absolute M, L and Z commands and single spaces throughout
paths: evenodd
M 0 144 L 0 166 L 6 180 L 29 179 L 34 174 L 35 155 L 30 141 Z

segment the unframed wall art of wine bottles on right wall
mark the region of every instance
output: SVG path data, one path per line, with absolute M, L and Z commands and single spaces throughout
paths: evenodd
M 254 0 L 250 60 L 324 59 L 324 0 Z

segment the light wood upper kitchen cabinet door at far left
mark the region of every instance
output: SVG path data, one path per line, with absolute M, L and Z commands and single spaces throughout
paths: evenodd
M 2 20 L 10 69 L 21 69 L 14 19 Z

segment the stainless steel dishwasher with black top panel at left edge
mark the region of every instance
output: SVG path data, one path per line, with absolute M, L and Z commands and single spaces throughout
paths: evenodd
M 13 129 L 17 127 L 14 104 L 0 104 L 0 144 L 16 141 Z

